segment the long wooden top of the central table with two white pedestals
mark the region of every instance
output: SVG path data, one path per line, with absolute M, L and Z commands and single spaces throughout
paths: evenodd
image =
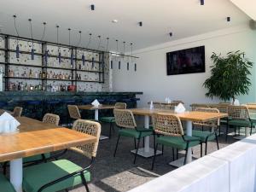
M 149 115 L 153 113 L 174 113 L 173 110 L 168 109 L 149 109 L 149 108 L 129 108 L 132 113 L 138 115 Z M 209 121 L 212 119 L 220 119 L 228 117 L 228 113 L 208 113 L 208 112 L 198 112 L 198 111 L 186 111 L 185 113 L 174 113 L 181 120 L 191 120 L 191 121 Z

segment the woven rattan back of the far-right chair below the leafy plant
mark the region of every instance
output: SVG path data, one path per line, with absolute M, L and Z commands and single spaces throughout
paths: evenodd
M 230 105 L 228 106 L 228 113 L 232 119 L 247 120 L 250 119 L 249 109 L 246 105 Z

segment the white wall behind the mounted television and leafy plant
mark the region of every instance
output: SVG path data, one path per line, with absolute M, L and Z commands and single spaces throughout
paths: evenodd
M 206 48 L 206 73 L 166 75 L 166 52 L 201 45 Z M 218 102 L 218 98 L 207 98 L 206 90 L 202 87 L 210 75 L 210 56 L 212 52 L 225 55 L 238 49 L 245 51 L 247 58 L 256 63 L 256 31 L 249 29 L 247 25 L 139 49 L 134 54 L 139 57 L 137 72 L 134 72 L 133 67 L 127 71 L 125 63 L 122 63 L 121 70 L 118 70 L 117 63 L 114 63 L 113 91 L 143 91 L 140 107 L 147 106 L 146 103 L 150 100 L 164 101 L 166 96 L 172 100 L 183 100 L 187 107 L 193 102 Z M 241 102 L 256 101 L 255 67 L 252 73 L 253 85 L 250 93 L 248 96 L 240 96 Z

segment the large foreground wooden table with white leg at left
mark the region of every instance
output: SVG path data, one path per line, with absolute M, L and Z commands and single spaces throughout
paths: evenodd
M 0 134 L 0 162 L 10 160 L 10 182 L 22 191 L 22 158 L 96 142 L 96 137 L 26 117 L 19 132 Z

